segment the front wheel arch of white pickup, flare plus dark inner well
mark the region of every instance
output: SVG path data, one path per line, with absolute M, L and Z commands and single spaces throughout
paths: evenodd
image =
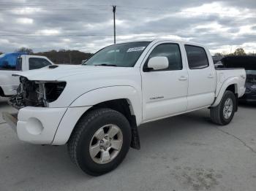
M 132 143 L 131 147 L 140 149 L 140 139 L 138 136 L 137 126 L 142 120 L 142 101 L 141 96 L 134 87 L 118 86 L 118 87 L 102 87 L 96 90 L 91 90 L 88 93 L 81 95 L 70 104 L 69 109 L 64 114 L 53 144 L 65 144 L 69 140 L 72 132 L 75 130 L 75 125 L 88 112 L 99 108 L 109 108 L 121 112 L 127 117 L 132 128 Z M 67 126 L 65 121 L 68 117 L 75 114 L 77 120 L 72 120 L 72 125 Z

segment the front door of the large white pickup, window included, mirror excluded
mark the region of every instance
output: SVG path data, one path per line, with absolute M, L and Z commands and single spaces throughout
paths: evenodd
M 156 56 L 167 57 L 168 69 L 146 71 L 149 58 Z M 180 44 L 157 43 L 148 52 L 141 71 L 144 122 L 187 110 L 188 75 L 183 61 Z

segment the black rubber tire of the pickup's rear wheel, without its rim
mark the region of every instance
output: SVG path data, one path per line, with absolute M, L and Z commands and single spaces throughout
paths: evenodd
M 233 101 L 233 109 L 230 114 L 230 117 L 225 118 L 223 109 L 225 106 L 225 101 L 227 101 L 228 98 L 230 98 Z M 235 114 L 236 104 L 236 96 L 234 95 L 234 93 L 230 90 L 226 90 L 222 96 L 222 101 L 220 101 L 219 105 L 211 107 L 210 109 L 211 121 L 216 123 L 217 125 L 227 125 L 228 123 L 230 123 Z

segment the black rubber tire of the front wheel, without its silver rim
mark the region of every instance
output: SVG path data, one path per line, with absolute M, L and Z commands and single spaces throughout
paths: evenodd
M 95 163 L 90 156 L 91 139 L 99 128 L 113 124 L 120 128 L 123 143 L 118 155 L 105 164 Z M 124 160 L 131 143 L 131 128 L 126 117 L 113 109 L 95 109 L 81 117 L 68 141 L 67 148 L 73 163 L 86 174 L 99 176 L 115 169 Z

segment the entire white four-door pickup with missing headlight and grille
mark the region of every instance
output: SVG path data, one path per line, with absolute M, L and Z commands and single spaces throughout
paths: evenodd
M 227 125 L 244 94 L 244 69 L 214 69 L 200 44 L 154 40 L 114 44 L 81 66 L 20 74 L 17 114 L 4 119 L 31 144 L 67 144 L 72 161 L 98 176 L 140 149 L 137 127 L 209 108 Z M 189 124 L 188 124 L 189 125 Z M 156 127 L 157 128 L 157 127 Z

